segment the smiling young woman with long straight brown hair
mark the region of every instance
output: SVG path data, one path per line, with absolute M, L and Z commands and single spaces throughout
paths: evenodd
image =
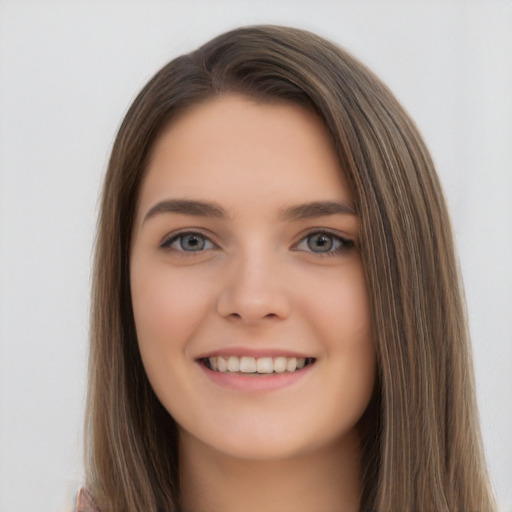
M 441 188 L 353 57 L 243 28 L 142 90 L 88 400 L 79 511 L 494 510 Z

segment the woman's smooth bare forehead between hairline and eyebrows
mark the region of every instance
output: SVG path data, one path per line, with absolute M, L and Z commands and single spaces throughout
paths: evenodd
M 315 113 L 234 94 L 185 111 L 155 143 L 140 204 L 169 194 L 250 204 L 297 202 L 304 195 L 351 200 L 330 134 Z

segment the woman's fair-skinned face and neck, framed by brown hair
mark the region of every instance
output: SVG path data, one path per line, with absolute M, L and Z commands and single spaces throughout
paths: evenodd
M 224 95 L 158 139 L 130 279 L 185 511 L 358 510 L 375 378 L 359 227 L 303 107 Z

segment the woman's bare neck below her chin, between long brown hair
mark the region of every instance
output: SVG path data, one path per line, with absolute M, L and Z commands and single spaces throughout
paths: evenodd
M 332 446 L 284 460 L 244 460 L 180 435 L 186 512 L 357 512 L 360 448 L 354 431 Z

